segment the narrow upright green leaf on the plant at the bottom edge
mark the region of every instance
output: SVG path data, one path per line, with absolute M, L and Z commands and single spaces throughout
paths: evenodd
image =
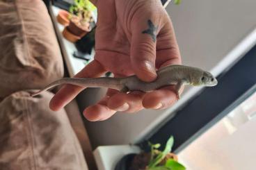
M 163 158 L 165 158 L 166 155 L 170 153 L 170 151 L 172 151 L 173 143 L 174 143 L 174 139 L 173 139 L 173 136 L 171 136 L 166 142 L 166 148 L 164 148 L 163 152 L 157 155 L 157 158 L 154 158 L 154 160 L 150 161 L 150 164 L 148 165 L 148 167 L 149 168 L 156 167 L 157 164 L 159 164 L 163 160 Z

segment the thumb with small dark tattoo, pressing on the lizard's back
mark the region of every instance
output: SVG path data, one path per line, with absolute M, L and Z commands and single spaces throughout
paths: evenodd
M 147 82 L 157 78 L 157 33 L 163 24 L 161 11 L 155 11 L 154 5 L 138 8 L 131 19 L 131 66 L 136 76 Z

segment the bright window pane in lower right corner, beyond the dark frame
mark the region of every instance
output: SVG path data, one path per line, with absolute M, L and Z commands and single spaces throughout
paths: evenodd
M 187 169 L 255 169 L 256 92 L 179 153 Z

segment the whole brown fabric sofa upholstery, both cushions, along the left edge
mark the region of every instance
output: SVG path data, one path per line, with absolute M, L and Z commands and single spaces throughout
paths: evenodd
M 49 109 L 53 94 L 32 98 L 25 91 L 62 77 L 45 4 L 0 0 L 0 169 L 88 169 L 65 110 Z

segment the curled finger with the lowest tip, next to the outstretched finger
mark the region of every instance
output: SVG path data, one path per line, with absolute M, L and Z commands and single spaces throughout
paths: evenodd
M 113 116 L 116 111 L 111 110 L 107 106 L 107 103 L 109 101 L 109 98 L 117 92 L 117 90 L 109 89 L 106 93 L 106 96 L 104 96 L 104 98 L 99 101 L 99 103 L 97 103 L 96 105 L 91 105 L 83 111 L 84 117 L 86 117 L 86 119 L 88 119 L 89 121 L 103 121 Z

